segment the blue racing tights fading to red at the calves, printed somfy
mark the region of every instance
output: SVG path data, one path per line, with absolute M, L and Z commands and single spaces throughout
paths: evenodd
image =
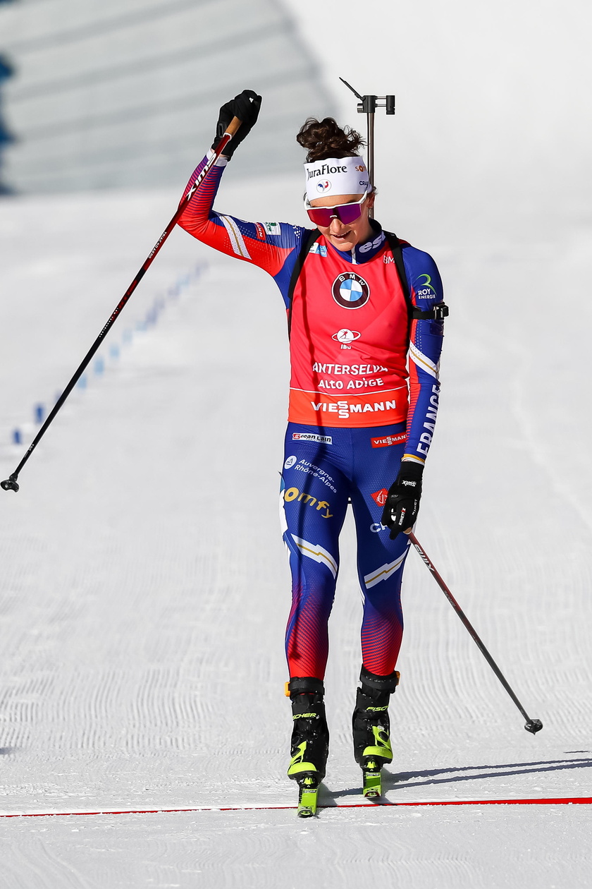
M 325 676 L 339 534 L 350 501 L 364 603 L 362 661 L 378 676 L 395 669 L 403 636 L 400 592 L 408 539 L 399 533 L 391 541 L 381 516 L 405 437 L 404 424 L 328 428 L 288 423 L 280 518 L 292 573 L 286 629 L 290 677 Z

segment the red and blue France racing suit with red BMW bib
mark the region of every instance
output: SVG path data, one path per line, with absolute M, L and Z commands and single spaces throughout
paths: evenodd
M 281 511 L 292 572 L 289 674 L 324 678 L 338 539 L 351 501 L 364 599 L 362 660 L 370 672 L 386 676 L 395 669 L 403 633 L 400 589 L 408 540 L 400 533 L 391 541 L 381 516 L 403 456 L 423 463 L 430 449 L 443 323 L 410 320 L 410 309 L 442 302 L 438 268 L 427 253 L 401 242 L 407 294 L 383 229 L 372 220 L 372 238 L 351 252 L 319 236 L 292 282 L 290 300 L 290 279 L 310 230 L 214 212 L 224 166 L 225 159 L 218 159 L 179 225 L 216 250 L 263 268 L 288 310 L 291 380 Z

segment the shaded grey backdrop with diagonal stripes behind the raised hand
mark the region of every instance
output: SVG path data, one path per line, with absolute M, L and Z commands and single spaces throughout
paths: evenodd
M 0 5 L 3 179 L 18 191 L 181 186 L 217 109 L 264 93 L 241 173 L 296 164 L 304 116 L 328 110 L 317 67 L 275 0 L 28 0 Z

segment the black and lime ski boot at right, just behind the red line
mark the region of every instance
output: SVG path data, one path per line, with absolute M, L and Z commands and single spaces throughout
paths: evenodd
M 399 673 L 375 676 L 362 666 L 359 674 L 361 686 L 356 697 L 351 726 L 353 755 L 364 774 L 364 796 L 380 797 L 382 793 L 381 770 L 392 761 L 391 722 L 389 700 L 399 685 Z

